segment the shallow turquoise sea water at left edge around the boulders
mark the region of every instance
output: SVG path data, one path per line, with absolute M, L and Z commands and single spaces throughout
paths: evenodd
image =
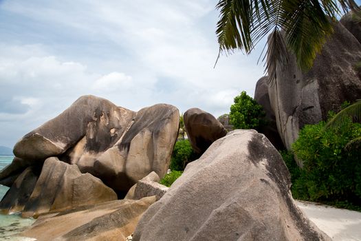
M 0 169 L 12 162 L 14 156 L 0 156 Z M 0 200 L 8 191 L 9 187 L 0 185 Z M 33 218 L 21 218 L 17 214 L 0 214 L 0 240 L 33 240 L 16 237 L 16 234 L 29 227 L 34 222 Z M 15 235 L 15 236 L 14 236 Z

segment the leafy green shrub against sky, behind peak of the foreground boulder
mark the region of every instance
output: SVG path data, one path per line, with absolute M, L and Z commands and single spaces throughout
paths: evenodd
M 230 123 L 236 129 L 259 129 L 265 125 L 265 112 L 261 105 L 243 91 L 234 97 L 230 106 Z

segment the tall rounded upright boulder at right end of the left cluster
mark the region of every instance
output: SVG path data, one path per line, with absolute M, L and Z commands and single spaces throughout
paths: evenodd
M 98 156 L 94 168 L 88 171 L 109 187 L 125 193 L 151 171 L 163 177 L 168 170 L 178 127 L 179 112 L 172 105 L 141 109 L 124 136 Z M 82 159 L 72 163 L 83 169 Z

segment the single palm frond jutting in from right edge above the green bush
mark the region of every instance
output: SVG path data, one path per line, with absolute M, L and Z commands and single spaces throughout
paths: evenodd
M 333 116 L 333 118 L 326 123 L 325 129 L 338 127 L 347 120 L 347 118 L 352 118 L 354 121 L 361 121 L 361 100 L 342 109 L 338 114 Z

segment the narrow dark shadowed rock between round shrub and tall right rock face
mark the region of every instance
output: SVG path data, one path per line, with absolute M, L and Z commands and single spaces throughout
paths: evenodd
M 276 149 L 284 149 L 285 147 L 277 130 L 276 116 L 274 116 L 271 107 L 267 81 L 267 76 L 260 78 L 259 81 L 257 81 L 256 90 L 254 91 L 254 100 L 259 103 L 259 105 L 262 105 L 267 121 L 267 125 L 260 127 L 259 132 L 265 134 Z

